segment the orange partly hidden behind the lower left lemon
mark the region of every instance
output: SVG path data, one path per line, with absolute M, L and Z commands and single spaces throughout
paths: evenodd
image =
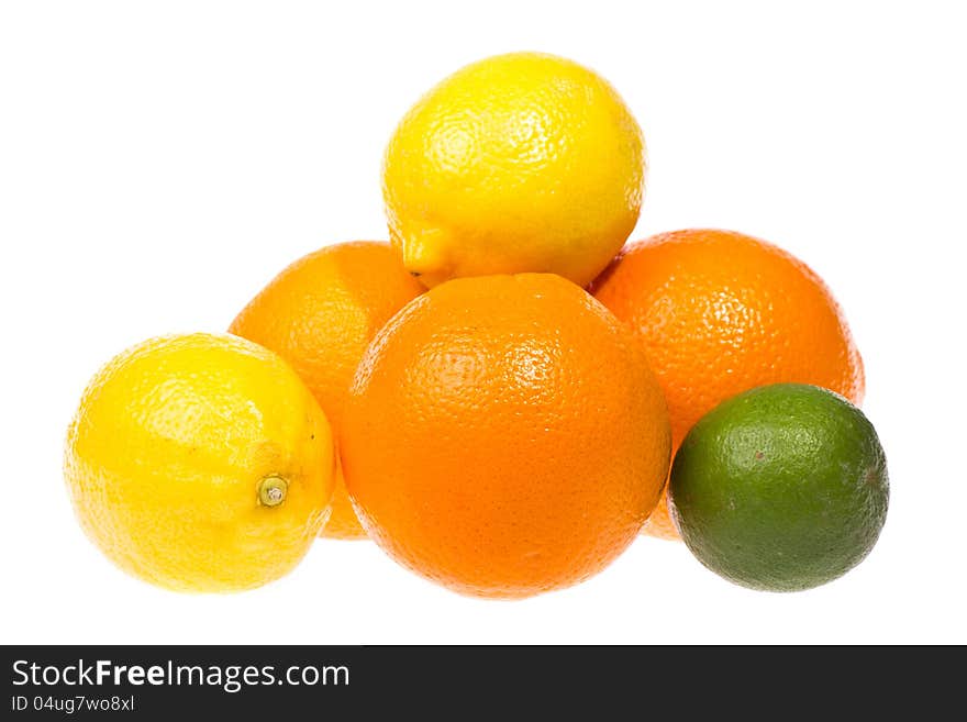
M 363 352 L 380 326 L 424 290 L 388 243 L 343 243 L 282 270 L 229 331 L 289 362 L 325 411 L 338 446 L 349 382 Z M 321 536 L 366 536 L 341 475 L 332 509 Z

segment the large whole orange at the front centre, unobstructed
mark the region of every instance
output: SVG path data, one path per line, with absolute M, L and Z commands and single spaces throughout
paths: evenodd
M 359 364 L 346 485 L 369 535 L 455 591 L 519 598 L 600 571 L 668 473 L 665 400 L 633 335 L 549 274 L 462 278 Z

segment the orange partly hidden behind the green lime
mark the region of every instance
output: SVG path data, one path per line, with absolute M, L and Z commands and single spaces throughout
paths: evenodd
M 627 246 L 591 291 L 644 342 L 668 402 L 673 447 L 721 401 L 756 386 L 821 386 L 863 400 L 863 362 L 830 290 L 785 251 L 731 231 Z M 676 538 L 665 500 L 645 525 Z

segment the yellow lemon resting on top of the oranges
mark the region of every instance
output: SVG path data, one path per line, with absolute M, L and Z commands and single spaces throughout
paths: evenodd
M 641 129 L 607 80 L 514 53 L 469 65 L 403 118 L 384 159 L 393 244 L 426 286 L 549 271 L 580 286 L 637 222 Z

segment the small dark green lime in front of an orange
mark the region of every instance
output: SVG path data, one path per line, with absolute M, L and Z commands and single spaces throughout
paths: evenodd
M 890 488 L 872 424 L 844 398 L 776 384 L 740 393 L 688 433 L 671 512 L 692 554 L 743 587 L 801 591 L 859 564 Z

